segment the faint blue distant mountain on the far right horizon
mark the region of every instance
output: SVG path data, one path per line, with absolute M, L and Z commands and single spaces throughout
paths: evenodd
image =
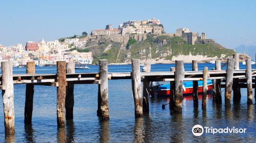
M 243 45 L 236 47 L 234 49 L 234 51 L 236 53 L 245 53 L 245 54 L 249 55 L 252 59 L 255 59 L 256 45 L 247 45 L 248 50 L 246 50 L 246 51 L 245 51 L 245 48 L 246 48 L 246 45 L 243 44 Z

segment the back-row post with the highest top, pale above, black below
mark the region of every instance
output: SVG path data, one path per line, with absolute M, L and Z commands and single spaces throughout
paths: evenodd
M 234 70 L 239 69 L 239 54 L 233 54 L 234 58 Z M 239 87 L 239 78 L 233 79 L 233 101 L 240 101 L 241 99 L 241 90 Z

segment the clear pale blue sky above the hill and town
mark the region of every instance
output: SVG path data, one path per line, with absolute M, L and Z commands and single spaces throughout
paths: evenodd
M 0 44 L 56 40 L 118 27 L 124 21 L 160 19 L 166 33 L 189 28 L 228 49 L 256 45 L 256 1 L 66 1 L 0 2 Z

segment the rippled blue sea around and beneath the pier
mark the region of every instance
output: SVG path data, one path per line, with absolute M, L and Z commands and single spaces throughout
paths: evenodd
M 169 71 L 174 64 L 153 64 L 152 71 Z M 214 64 L 199 64 L 209 69 Z M 254 65 L 253 65 L 254 66 Z M 98 72 L 98 66 L 79 69 L 76 73 Z M 224 67 L 225 68 L 225 67 Z M 245 69 L 240 64 L 241 69 Z M 253 67 L 254 68 L 254 67 Z M 185 64 L 191 70 L 191 64 Z M 110 65 L 109 72 L 130 72 L 131 65 Z M 26 73 L 26 68 L 14 68 L 13 73 Z M 36 67 L 36 73 L 56 73 L 56 67 Z M 224 90 L 224 89 L 223 89 Z M 56 87 L 35 86 L 32 126 L 24 126 L 25 84 L 14 85 L 15 136 L 6 137 L 3 101 L 0 100 L 0 142 L 256 142 L 256 107 L 247 105 L 247 91 L 242 89 L 240 103 L 231 107 L 218 106 L 207 97 L 206 110 L 193 107 L 191 98 L 184 98 L 182 113 L 162 109 L 167 98 L 151 98 L 150 113 L 135 118 L 131 80 L 109 81 L 110 120 L 99 121 L 97 111 L 97 84 L 75 85 L 74 120 L 66 121 L 66 128 L 57 129 Z M 254 95 L 254 93 L 253 93 Z M 246 128 L 246 133 L 217 133 L 194 136 L 191 129 L 199 124 L 213 128 Z

